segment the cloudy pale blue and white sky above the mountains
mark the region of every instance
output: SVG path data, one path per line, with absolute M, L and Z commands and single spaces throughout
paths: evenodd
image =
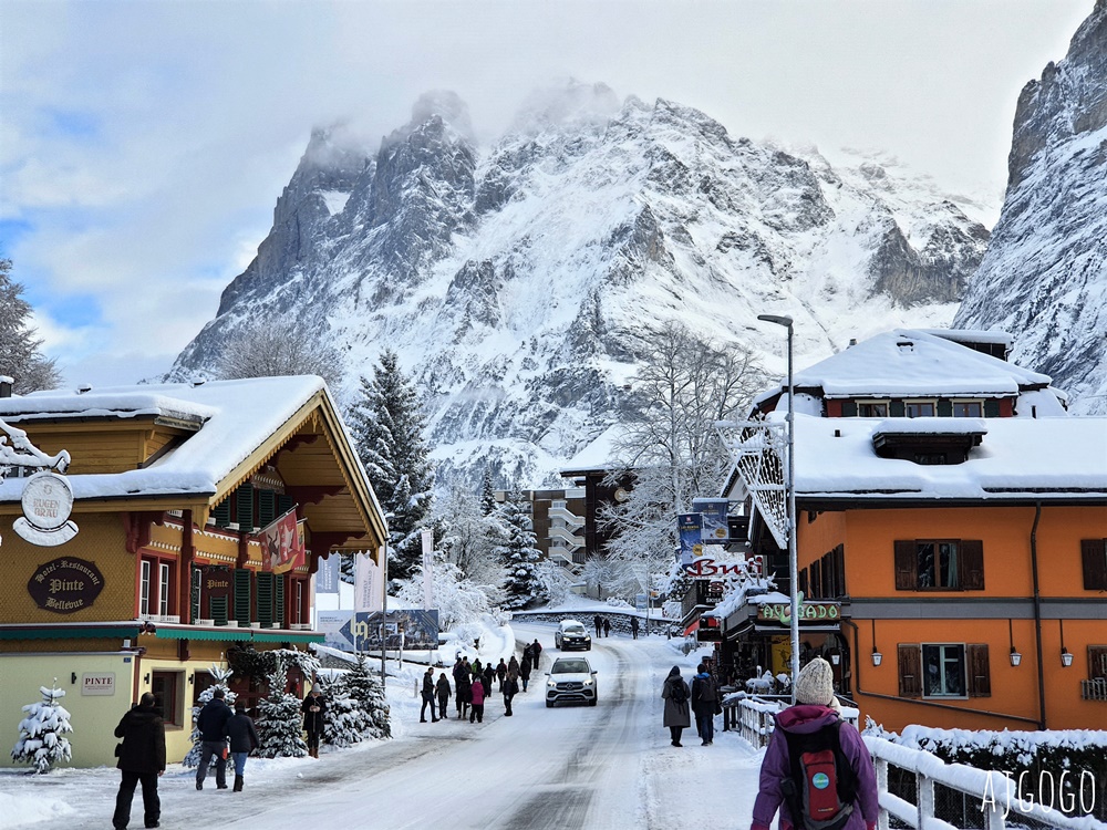
M 0 6 L 0 253 L 66 383 L 168 369 L 272 221 L 313 126 L 455 90 L 485 141 L 551 79 L 735 135 L 880 148 L 1002 195 L 1015 101 L 1090 0 Z

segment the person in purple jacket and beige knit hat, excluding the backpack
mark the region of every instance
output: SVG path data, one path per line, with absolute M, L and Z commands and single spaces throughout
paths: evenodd
M 830 664 L 821 657 L 816 657 L 804 666 L 796 681 L 796 705 L 776 716 L 776 729 L 769 738 L 765 759 L 762 761 L 761 787 L 754 801 L 751 830 L 768 830 L 778 809 L 780 827 L 785 830 L 795 827 L 793 816 L 787 805 L 784 805 L 785 796 L 782 789 L 784 782 L 792 779 L 787 734 L 803 736 L 817 733 L 824 726 L 837 723 L 839 710 L 838 698 L 834 694 L 834 672 Z M 869 750 L 857 729 L 847 723 L 842 723 L 838 729 L 838 743 L 855 777 L 852 812 L 841 826 L 841 830 L 873 830 L 880 808 L 877 803 L 877 778 Z

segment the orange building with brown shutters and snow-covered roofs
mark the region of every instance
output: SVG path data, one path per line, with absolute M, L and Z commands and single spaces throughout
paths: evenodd
M 893 332 L 797 374 L 798 588 L 837 618 L 801 619 L 801 651 L 889 729 L 1105 728 L 1107 419 L 1065 415 L 1047 377 L 976 334 Z M 780 400 L 755 415 L 779 423 Z M 787 574 L 748 478 L 728 497 Z M 758 602 L 724 637 L 768 658 L 787 633 Z

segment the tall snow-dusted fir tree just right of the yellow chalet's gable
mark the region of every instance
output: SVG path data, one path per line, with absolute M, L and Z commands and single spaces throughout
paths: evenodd
M 389 519 L 389 577 L 406 579 L 422 560 L 420 530 L 431 510 L 434 469 L 424 437 L 426 416 L 415 385 L 384 351 L 373 380 L 361 380 L 350 412 L 358 454 Z M 348 580 L 352 567 L 343 561 Z

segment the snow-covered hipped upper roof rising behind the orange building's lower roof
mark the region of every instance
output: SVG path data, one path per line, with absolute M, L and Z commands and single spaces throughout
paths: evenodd
M 1006 397 L 1027 386 L 1048 386 L 1051 378 L 961 345 L 946 333 L 897 329 L 796 372 L 794 382 L 799 388 L 821 388 L 829 398 Z

